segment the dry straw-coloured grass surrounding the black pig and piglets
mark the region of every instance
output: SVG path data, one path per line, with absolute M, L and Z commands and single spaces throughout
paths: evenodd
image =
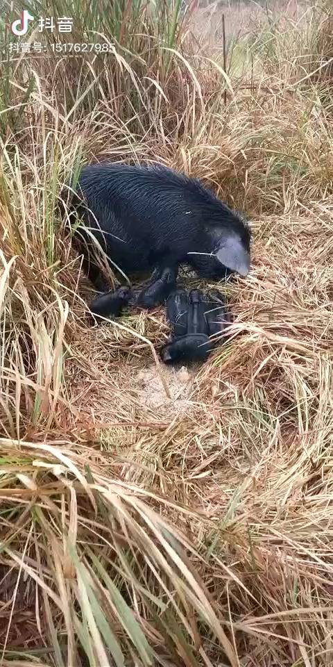
M 128 60 L 58 78 L 35 63 L 24 113 L 5 83 L 26 65 L 3 68 L 1 664 L 327 667 L 330 15 L 295 6 L 272 26 L 256 8 L 225 77 L 185 26 L 163 60 L 144 11 Z M 87 326 L 56 201 L 82 160 L 114 156 L 199 176 L 251 216 L 250 275 L 221 285 L 234 338 L 201 368 L 156 368 L 161 309 Z

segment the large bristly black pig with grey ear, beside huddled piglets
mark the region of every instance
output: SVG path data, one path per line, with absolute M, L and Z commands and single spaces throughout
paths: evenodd
M 112 268 L 119 267 L 127 275 L 154 270 L 148 285 L 136 295 L 138 306 L 150 308 L 164 302 L 176 288 L 182 263 L 207 279 L 248 274 L 247 224 L 200 181 L 162 165 L 84 167 L 69 211 L 83 218 Z M 96 289 L 108 292 L 110 286 L 101 275 L 94 243 L 84 227 L 74 233 L 74 242 Z M 119 314 L 117 293 L 99 299 L 94 301 L 96 314 Z

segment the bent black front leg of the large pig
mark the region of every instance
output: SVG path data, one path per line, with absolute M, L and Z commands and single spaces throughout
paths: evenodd
M 155 269 L 152 275 L 151 283 L 143 290 L 135 293 L 134 300 L 131 303 L 141 308 L 154 308 L 160 306 L 169 297 L 176 288 L 178 266 L 164 265 Z

